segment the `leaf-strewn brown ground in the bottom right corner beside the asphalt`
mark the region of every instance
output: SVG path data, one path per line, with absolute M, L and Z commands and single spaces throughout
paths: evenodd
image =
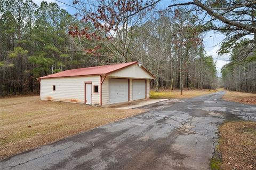
M 220 126 L 222 169 L 255 169 L 256 122 L 227 122 Z

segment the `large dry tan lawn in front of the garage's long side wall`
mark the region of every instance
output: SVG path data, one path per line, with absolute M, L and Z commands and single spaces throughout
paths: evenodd
M 39 101 L 39 96 L 0 100 L 0 158 L 143 112 Z

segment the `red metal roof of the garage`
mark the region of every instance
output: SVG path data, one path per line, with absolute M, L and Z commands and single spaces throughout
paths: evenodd
M 54 78 L 54 77 L 70 77 L 70 76 L 105 75 L 105 74 L 109 74 L 110 72 L 122 69 L 124 67 L 131 66 L 132 64 L 135 64 L 135 63 L 138 63 L 138 62 L 134 61 L 134 62 L 121 63 L 121 64 L 111 64 L 111 65 L 105 65 L 105 66 L 66 70 L 66 71 L 61 71 L 61 72 L 58 72 L 58 73 L 55 73 L 52 75 L 39 77 L 37 79 Z M 145 68 L 143 68 L 143 69 L 145 69 Z M 149 72 L 149 74 L 150 74 L 150 72 Z M 153 76 L 152 74 L 150 74 L 150 75 Z

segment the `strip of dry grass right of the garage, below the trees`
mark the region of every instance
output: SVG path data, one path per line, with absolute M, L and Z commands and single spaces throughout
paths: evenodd
M 150 91 L 150 98 L 152 99 L 180 99 L 180 98 L 194 98 L 199 95 L 204 95 L 204 94 L 210 94 L 217 92 L 217 90 L 184 90 L 183 95 L 180 95 L 179 90 L 159 90 L 159 92 L 156 91 Z

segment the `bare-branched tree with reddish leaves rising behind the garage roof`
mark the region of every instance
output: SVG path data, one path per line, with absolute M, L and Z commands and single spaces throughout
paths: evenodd
M 90 22 L 94 29 L 73 27 L 69 33 L 73 36 L 85 36 L 96 40 L 94 49 L 105 45 L 119 62 L 131 59 L 131 41 L 135 29 L 141 25 L 147 12 L 154 8 L 154 1 L 74 1 L 83 17 L 82 21 Z

